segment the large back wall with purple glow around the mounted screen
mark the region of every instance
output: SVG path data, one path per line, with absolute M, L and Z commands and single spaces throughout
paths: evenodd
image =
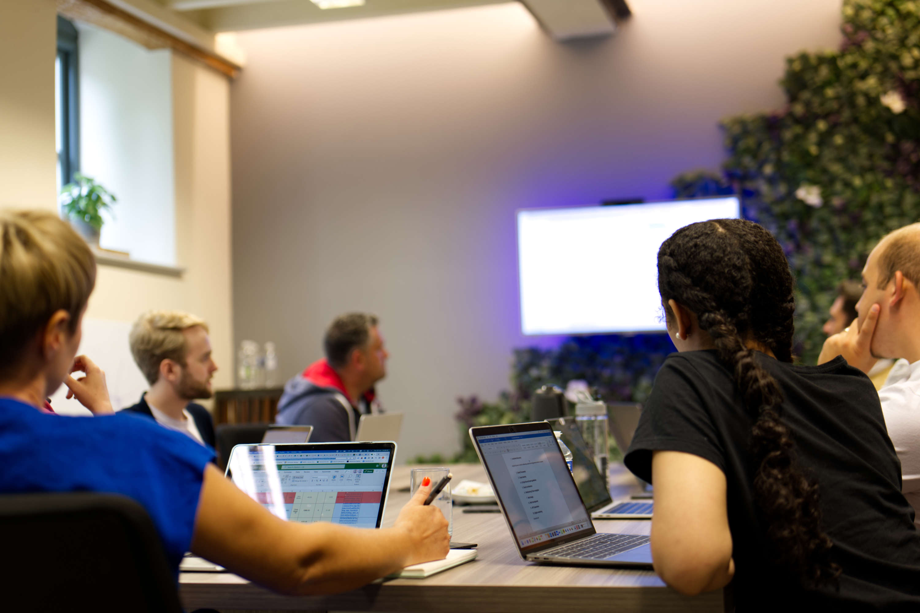
M 785 56 L 841 38 L 840 0 L 629 5 L 566 45 L 516 3 L 241 33 L 236 337 L 276 341 L 290 376 L 337 313 L 377 312 L 400 456 L 455 448 L 456 396 L 494 398 L 534 342 L 514 210 L 667 198 L 718 168 L 720 118 L 784 103 Z

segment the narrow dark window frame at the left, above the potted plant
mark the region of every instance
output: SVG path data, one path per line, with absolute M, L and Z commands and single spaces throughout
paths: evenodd
M 79 33 L 71 21 L 57 17 L 57 59 L 61 62 L 60 116 L 61 151 L 58 162 L 61 165 L 61 186 L 74 180 L 74 173 L 80 169 L 80 72 Z

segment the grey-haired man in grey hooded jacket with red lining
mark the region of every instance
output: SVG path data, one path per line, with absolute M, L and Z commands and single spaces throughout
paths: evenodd
M 329 325 L 326 358 L 284 385 L 275 421 L 313 426 L 311 443 L 354 440 L 362 414 L 379 410 L 374 383 L 386 376 L 384 339 L 374 315 L 352 312 Z

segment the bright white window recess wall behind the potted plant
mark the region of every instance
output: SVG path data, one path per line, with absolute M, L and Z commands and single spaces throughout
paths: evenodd
M 80 170 L 115 194 L 99 245 L 176 264 L 172 52 L 79 28 Z

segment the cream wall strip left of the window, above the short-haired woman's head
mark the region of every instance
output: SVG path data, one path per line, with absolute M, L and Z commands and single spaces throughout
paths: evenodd
M 0 2 L 0 207 L 56 210 L 54 0 Z

